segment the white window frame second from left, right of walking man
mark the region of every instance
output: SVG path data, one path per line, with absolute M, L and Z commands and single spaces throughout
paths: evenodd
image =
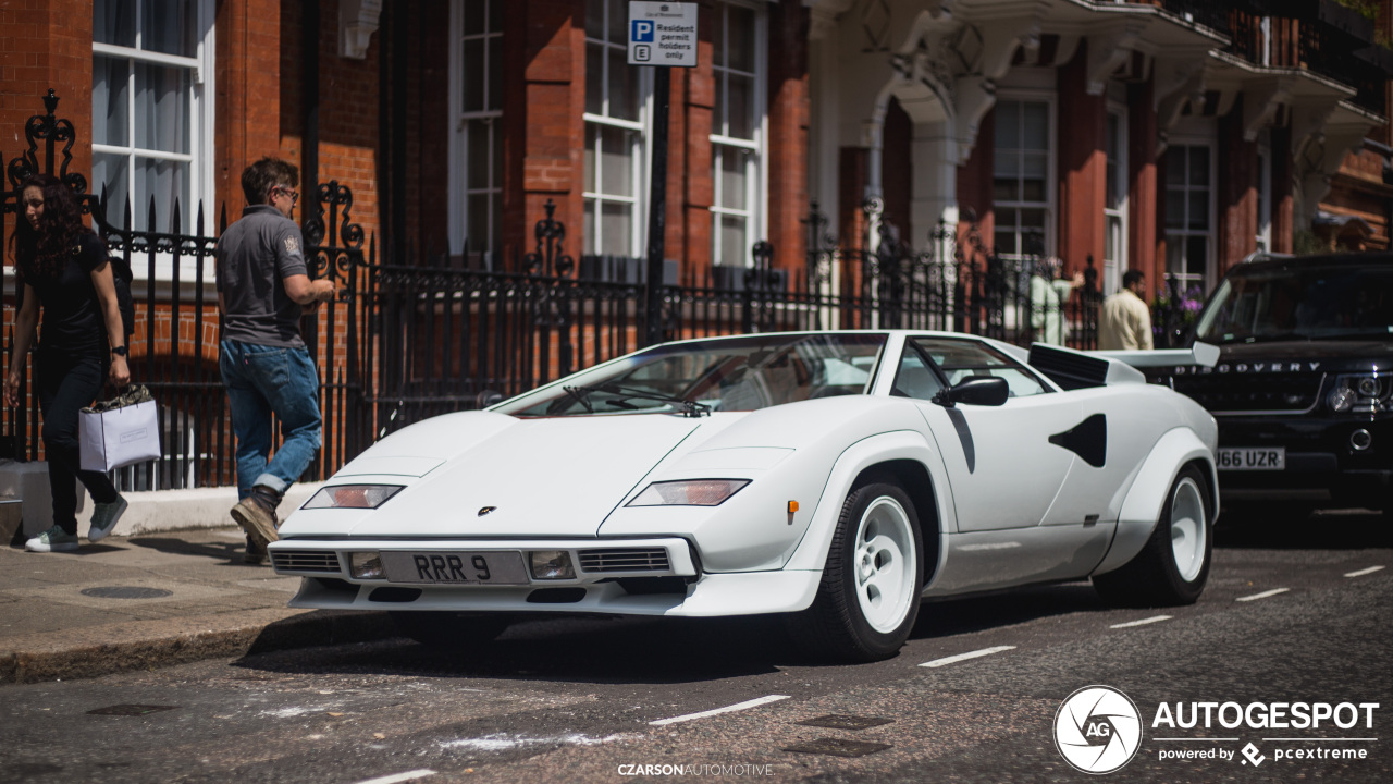
M 501 159 L 497 155 L 497 145 L 503 144 L 500 137 L 501 120 L 503 120 L 503 105 L 501 96 L 497 100 L 497 109 L 483 109 L 483 110 L 465 110 L 464 109 L 464 81 L 468 77 L 464 73 L 464 42 L 469 40 L 483 40 L 485 42 L 485 57 L 483 68 L 485 73 L 479 74 L 478 78 L 482 80 L 485 89 L 485 106 L 493 105 L 492 96 L 488 95 L 489 84 L 489 46 L 503 46 L 503 31 L 485 31 L 482 33 L 464 33 L 464 3 L 467 0 L 451 0 L 450 1 L 450 100 L 449 112 L 451 123 L 454 124 L 450 131 L 450 181 L 449 181 L 449 232 L 450 232 L 450 252 L 458 254 L 464 251 L 465 241 L 469 243 L 469 252 L 479 251 L 495 251 L 501 246 L 503 239 L 495 237 L 493 232 L 499 226 L 499 215 L 490 213 L 486 218 L 485 225 L 489 227 L 489 236 L 486 237 L 471 237 L 469 225 L 474 218 L 469 213 L 469 197 L 489 195 L 493 197 L 488 201 L 490 211 L 503 209 L 503 172 L 493 170 L 495 162 Z M 483 0 L 488 4 L 504 3 L 506 0 Z M 501 18 L 503 8 L 500 8 Z M 489 8 L 485 8 L 483 18 L 489 18 Z M 501 84 L 501 82 L 500 82 Z M 492 153 L 488 156 L 489 173 L 486 176 L 486 184 L 483 187 L 471 188 L 469 187 L 469 133 L 481 126 L 486 128 L 490 135 L 489 149 Z

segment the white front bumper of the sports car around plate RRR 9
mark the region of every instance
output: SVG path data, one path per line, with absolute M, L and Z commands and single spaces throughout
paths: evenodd
M 269 548 L 277 575 L 301 578 L 291 607 L 465 612 L 595 612 L 723 617 L 794 612 L 812 604 L 820 571 L 703 572 L 684 538 L 625 540 L 281 540 Z M 355 578 L 352 554 L 376 552 L 380 579 Z M 510 573 L 476 580 L 471 559 L 500 572 L 531 552 L 567 552 L 574 576 Z M 520 559 L 520 561 L 518 561 Z M 391 566 L 396 566 L 393 569 Z M 493 576 L 493 575 L 490 575 Z

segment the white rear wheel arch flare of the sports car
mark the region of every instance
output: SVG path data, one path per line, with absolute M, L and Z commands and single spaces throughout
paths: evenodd
M 1146 545 L 1160 511 L 1170 494 L 1170 485 L 1180 470 L 1190 463 L 1201 463 L 1209 477 L 1209 501 L 1213 513 L 1219 513 L 1219 474 L 1215 470 L 1213 452 L 1187 427 L 1167 431 L 1156 441 L 1151 455 L 1142 462 L 1137 478 L 1133 480 L 1127 498 L 1117 518 L 1117 533 L 1095 575 L 1112 572 L 1131 561 Z M 1213 520 L 1211 520 L 1213 522 Z

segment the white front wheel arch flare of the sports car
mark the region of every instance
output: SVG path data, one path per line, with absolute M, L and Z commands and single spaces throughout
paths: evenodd
M 812 515 L 812 522 L 804 533 L 798 547 L 784 564 L 784 569 L 808 569 L 820 572 L 827 562 L 827 550 L 832 547 L 832 536 L 837 530 L 837 519 L 841 516 L 843 502 L 866 469 L 890 460 L 914 460 L 921 463 L 933 483 L 933 499 L 937 504 L 940 520 L 940 538 L 949 532 L 957 530 L 957 516 L 953 511 L 953 495 L 947 481 L 947 470 L 943 459 L 933 446 L 925 441 L 924 435 L 910 430 L 882 432 L 858 441 L 848 446 L 832 466 L 827 484 L 818 499 L 818 509 Z M 925 516 L 919 513 L 922 525 Z M 936 548 L 939 559 L 947 551 L 940 545 Z M 925 564 L 925 571 L 933 569 L 933 564 Z M 932 571 L 929 573 L 936 573 Z

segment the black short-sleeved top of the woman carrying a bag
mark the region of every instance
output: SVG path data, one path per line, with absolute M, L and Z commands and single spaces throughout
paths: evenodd
M 43 306 L 40 346 L 82 353 L 106 347 L 106 321 L 92 285 L 92 271 L 103 262 L 106 244 L 89 233 L 78 236 L 77 246 L 64 259 L 63 273 L 56 278 L 38 275 L 32 261 L 21 262 L 24 282 L 33 287 Z

